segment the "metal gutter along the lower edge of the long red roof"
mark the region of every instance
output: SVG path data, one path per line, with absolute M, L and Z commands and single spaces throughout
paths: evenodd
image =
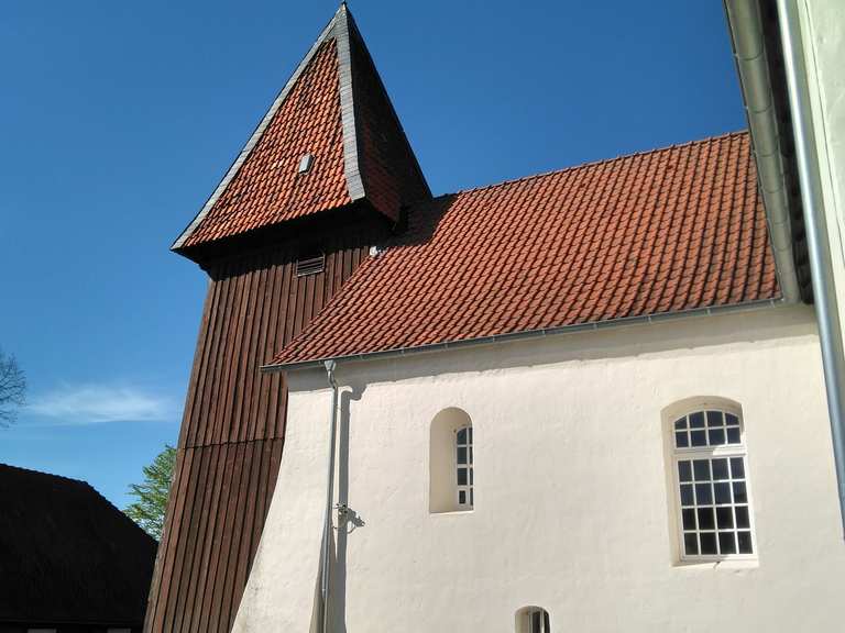
M 422 353 L 434 353 L 447 349 L 457 349 L 461 347 L 492 345 L 494 343 L 504 343 L 508 341 L 522 341 L 529 338 L 541 338 L 547 336 L 560 336 L 575 332 L 589 332 L 618 327 L 623 325 L 634 325 L 643 323 L 659 323 L 663 321 L 673 321 L 687 316 L 709 316 L 731 312 L 749 312 L 765 308 L 790 304 L 790 301 L 783 298 L 760 299 L 757 301 L 746 301 L 742 303 L 728 303 L 725 306 L 709 306 L 704 308 L 692 308 L 689 310 L 676 310 L 673 312 L 659 312 L 656 314 L 641 314 L 636 316 L 621 316 L 618 319 L 607 319 L 605 321 L 591 321 L 589 323 L 573 323 L 571 325 L 559 325 L 557 327 L 542 327 L 539 330 L 524 330 L 520 332 L 508 332 L 506 334 L 493 334 L 490 336 L 479 336 L 476 338 L 465 338 L 458 341 L 446 341 L 442 343 L 430 343 L 413 347 L 399 347 L 394 349 L 383 349 L 380 352 L 365 352 L 361 354 L 349 354 L 344 356 L 330 356 L 315 358 L 312 360 L 303 360 L 298 363 L 282 363 L 278 365 L 262 365 L 261 371 L 271 374 L 275 371 L 296 371 L 300 369 L 311 369 L 322 367 L 327 360 L 336 363 L 350 363 L 363 360 L 376 360 L 393 357 L 404 357 Z

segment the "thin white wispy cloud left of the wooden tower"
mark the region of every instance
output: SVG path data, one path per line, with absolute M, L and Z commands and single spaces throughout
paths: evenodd
M 167 397 L 138 387 L 106 385 L 61 387 L 33 398 L 25 413 L 50 418 L 58 424 L 171 422 L 178 419 L 178 409 Z

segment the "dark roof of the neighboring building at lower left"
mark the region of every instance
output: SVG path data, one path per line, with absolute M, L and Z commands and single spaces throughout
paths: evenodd
M 155 541 L 85 481 L 0 464 L 0 622 L 140 626 Z

